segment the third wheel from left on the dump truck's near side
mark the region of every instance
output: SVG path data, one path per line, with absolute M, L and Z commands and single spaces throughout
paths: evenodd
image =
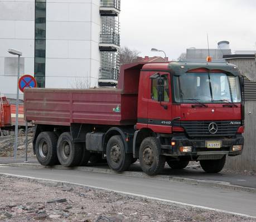
M 117 172 L 128 170 L 132 163 L 132 154 L 126 154 L 122 136 L 112 136 L 107 144 L 107 161 L 110 169 Z

